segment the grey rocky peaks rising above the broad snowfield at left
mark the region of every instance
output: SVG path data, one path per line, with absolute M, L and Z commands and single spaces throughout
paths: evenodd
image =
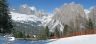
M 28 6 L 27 4 L 23 4 L 19 7 L 19 13 L 28 14 L 28 15 L 36 15 L 38 17 L 42 17 L 45 13 L 41 10 L 38 10 L 35 6 Z

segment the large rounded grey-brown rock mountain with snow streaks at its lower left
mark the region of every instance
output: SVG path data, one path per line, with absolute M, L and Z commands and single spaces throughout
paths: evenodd
M 48 24 L 51 29 L 58 28 L 61 31 L 64 25 L 75 29 L 83 28 L 85 20 L 84 8 L 80 4 L 69 3 L 54 10 L 52 21 Z

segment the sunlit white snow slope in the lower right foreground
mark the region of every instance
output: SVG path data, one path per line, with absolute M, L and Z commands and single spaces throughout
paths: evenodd
M 47 44 L 96 44 L 96 34 L 61 38 Z

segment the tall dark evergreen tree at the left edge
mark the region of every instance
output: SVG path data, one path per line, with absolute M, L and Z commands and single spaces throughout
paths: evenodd
M 8 14 L 7 0 L 0 0 L 0 33 L 12 32 L 12 20 Z

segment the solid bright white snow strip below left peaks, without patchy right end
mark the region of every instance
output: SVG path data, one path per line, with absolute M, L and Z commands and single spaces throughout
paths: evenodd
M 35 15 L 27 15 L 27 14 L 20 14 L 20 13 L 13 13 L 11 12 L 12 19 L 15 21 L 39 21 L 40 18 L 38 18 Z

